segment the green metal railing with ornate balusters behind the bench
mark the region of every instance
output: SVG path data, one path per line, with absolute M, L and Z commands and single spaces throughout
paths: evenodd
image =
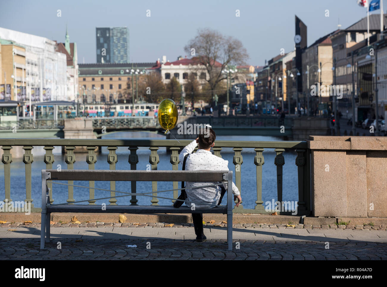
M 116 169 L 115 165 L 118 161 L 118 155 L 116 154 L 117 147 L 128 147 L 130 153 L 128 156 L 128 162 L 130 163 L 130 169 L 137 169 L 139 163 L 139 157 L 137 150 L 139 147 L 149 147 L 149 163 L 151 164 L 152 170 L 157 170 L 159 163 L 159 155 L 157 153 L 160 147 L 165 147 L 171 152 L 170 163 L 172 170 L 178 170 L 179 164 L 179 150 L 185 145 L 188 145 L 190 140 L 180 140 L 180 143 L 176 140 L 110 140 L 110 139 L 19 139 L 19 138 L 5 138 L 0 139 L 0 146 L 2 146 L 3 155 L 2 163 L 4 168 L 4 186 L 5 186 L 5 199 L 11 201 L 11 189 L 10 189 L 10 171 L 12 163 L 11 149 L 15 146 L 22 146 L 24 149 L 23 162 L 25 164 L 26 173 L 26 202 L 33 202 L 31 198 L 31 167 L 33 163 L 32 149 L 34 146 L 43 146 L 46 153 L 44 156 L 44 162 L 46 169 L 52 169 L 54 162 L 53 149 L 54 146 L 62 146 L 65 150 L 65 162 L 67 163 L 67 169 L 74 169 L 75 154 L 74 150 L 77 147 L 86 147 L 87 155 L 86 162 L 89 165 L 89 169 L 94 169 L 94 164 L 97 161 L 96 150 L 97 147 L 106 147 L 109 151 L 107 161 L 110 165 L 110 169 Z M 283 165 L 285 164 L 283 152 L 293 150 L 297 153 L 295 165 L 298 168 L 298 215 L 310 214 L 310 150 L 307 148 L 307 142 L 291 142 L 291 141 L 228 141 L 228 140 L 217 140 L 215 146 L 212 148 L 214 155 L 222 157 L 221 150 L 223 148 L 233 148 L 234 157 L 233 164 L 235 165 L 235 184 L 240 190 L 243 199 L 243 193 L 247 192 L 241 189 L 241 166 L 243 164 L 242 151 L 243 149 L 254 149 L 255 157 L 254 162 L 256 166 L 256 182 L 257 182 L 257 200 L 255 201 L 255 208 L 247 209 L 243 208 L 243 204 L 239 207 L 235 207 L 234 213 L 244 214 L 267 214 L 265 207 L 262 205 L 262 167 L 264 164 L 263 152 L 265 149 L 274 149 L 276 157 L 274 164 L 277 167 L 277 198 L 278 201 L 283 200 Z M 77 154 L 77 157 L 84 156 Z M 74 202 L 74 186 L 73 181 L 68 181 L 68 199 L 67 202 Z M 50 201 L 53 202 L 52 186 L 50 188 Z M 89 204 L 95 204 L 94 199 L 94 181 L 89 181 Z M 136 192 L 136 182 L 131 182 L 132 193 Z M 178 182 L 173 182 L 173 189 L 178 188 Z M 115 190 L 115 182 L 110 182 L 110 190 Z M 151 204 L 158 205 L 157 196 L 157 182 L 152 182 L 152 197 Z M 109 200 L 111 205 L 117 204 L 117 199 L 114 198 L 115 192 L 111 191 L 111 198 Z M 178 191 L 173 191 L 173 198 L 178 197 Z M 138 200 L 136 196 L 132 196 L 130 203 L 131 205 L 137 205 Z M 172 201 L 174 202 L 174 200 Z M 31 204 L 32 212 L 40 212 L 40 208 L 34 208 Z M 271 212 L 270 212 L 271 213 Z M 291 212 L 279 212 L 278 214 L 290 214 Z

